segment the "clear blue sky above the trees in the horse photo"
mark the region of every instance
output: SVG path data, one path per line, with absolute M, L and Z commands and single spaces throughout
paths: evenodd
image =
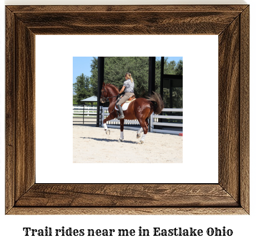
M 161 57 L 156 57 L 160 59 Z M 84 75 L 88 75 L 91 77 L 91 60 L 93 57 L 73 57 L 73 83 L 76 82 L 76 78 L 78 75 L 82 73 Z M 168 57 L 168 61 L 175 60 L 178 62 L 179 60 L 183 60 L 183 57 Z

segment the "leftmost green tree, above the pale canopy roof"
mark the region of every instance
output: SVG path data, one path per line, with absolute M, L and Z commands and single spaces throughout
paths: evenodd
M 81 100 L 89 98 L 92 95 L 91 83 L 89 77 L 78 75 L 77 82 L 73 83 L 73 103 L 81 104 Z

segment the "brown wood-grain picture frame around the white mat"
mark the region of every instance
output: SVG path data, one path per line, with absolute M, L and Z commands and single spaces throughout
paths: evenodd
M 218 184 L 36 184 L 36 34 L 217 34 Z M 249 214 L 249 6 L 6 6 L 6 214 Z

